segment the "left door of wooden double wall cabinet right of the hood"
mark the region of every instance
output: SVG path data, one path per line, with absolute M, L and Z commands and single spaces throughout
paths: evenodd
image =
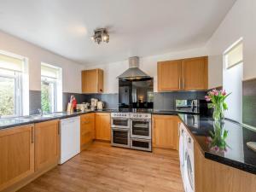
M 161 61 L 157 64 L 158 90 L 180 90 L 181 60 Z

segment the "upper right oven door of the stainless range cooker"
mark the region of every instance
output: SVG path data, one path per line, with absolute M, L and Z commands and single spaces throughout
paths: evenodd
M 151 139 L 151 119 L 131 119 L 131 137 Z

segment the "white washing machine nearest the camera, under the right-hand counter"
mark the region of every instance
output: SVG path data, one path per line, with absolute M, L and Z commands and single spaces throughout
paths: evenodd
M 194 140 L 189 133 L 186 134 L 184 148 L 184 189 L 185 192 L 195 192 Z

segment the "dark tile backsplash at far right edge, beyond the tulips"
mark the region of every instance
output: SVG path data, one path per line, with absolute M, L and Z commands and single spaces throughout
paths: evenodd
M 256 127 L 256 79 L 242 82 L 242 122 Z

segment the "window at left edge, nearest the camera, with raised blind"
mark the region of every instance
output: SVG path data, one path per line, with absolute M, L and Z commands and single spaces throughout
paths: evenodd
M 0 52 L 0 116 L 23 114 L 23 78 L 26 59 Z

